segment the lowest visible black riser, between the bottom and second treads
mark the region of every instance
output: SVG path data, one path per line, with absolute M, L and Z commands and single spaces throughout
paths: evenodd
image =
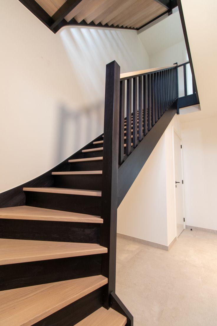
M 32 326 L 74 326 L 102 307 L 103 288 L 87 294 Z

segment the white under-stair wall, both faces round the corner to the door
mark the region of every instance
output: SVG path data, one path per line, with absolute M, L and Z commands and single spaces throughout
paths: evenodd
M 176 237 L 174 116 L 117 210 L 117 232 L 168 246 Z

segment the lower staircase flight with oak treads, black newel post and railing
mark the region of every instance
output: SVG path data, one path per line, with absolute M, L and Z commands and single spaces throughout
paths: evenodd
M 133 325 L 115 294 L 117 207 L 177 112 L 177 69 L 108 64 L 104 134 L 0 194 L 0 326 Z

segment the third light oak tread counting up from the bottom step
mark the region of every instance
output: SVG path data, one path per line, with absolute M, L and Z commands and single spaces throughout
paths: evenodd
M 99 244 L 0 239 L 0 265 L 104 253 L 107 248 Z

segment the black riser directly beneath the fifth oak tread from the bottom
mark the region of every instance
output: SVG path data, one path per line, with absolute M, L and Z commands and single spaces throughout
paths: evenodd
M 101 216 L 101 197 L 26 191 L 26 205 Z

